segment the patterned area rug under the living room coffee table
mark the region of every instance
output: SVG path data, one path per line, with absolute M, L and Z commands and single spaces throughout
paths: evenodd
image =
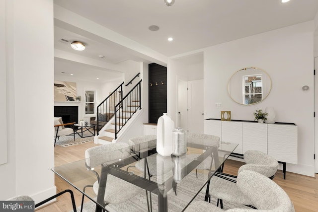
M 90 136 L 91 134 L 89 132 L 83 132 L 83 137 Z M 94 136 L 86 137 L 86 138 L 80 138 L 80 136 L 76 133 L 75 134 L 75 141 L 73 134 L 72 135 L 67 135 L 67 136 L 60 136 L 56 140 L 56 144 L 62 147 L 67 147 L 67 146 L 74 146 L 82 143 L 87 143 L 87 142 L 92 142 L 94 141 Z

